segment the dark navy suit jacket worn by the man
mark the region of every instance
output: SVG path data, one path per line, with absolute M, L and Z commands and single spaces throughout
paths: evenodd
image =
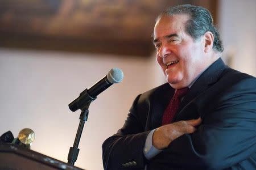
M 169 84 L 137 96 L 118 133 L 102 145 L 105 169 L 256 169 L 256 79 L 219 58 L 189 89 L 174 121 L 203 119 L 151 160 L 148 133 L 161 126 L 175 90 Z

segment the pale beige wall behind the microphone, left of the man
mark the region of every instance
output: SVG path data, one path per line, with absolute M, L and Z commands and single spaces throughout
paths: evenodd
M 90 105 L 75 163 L 103 169 L 102 142 L 121 128 L 139 93 L 163 82 L 154 57 L 0 49 L 0 134 L 11 130 L 17 137 L 21 129 L 31 128 L 36 134 L 32 150 L 67 162 L 80 116 L 80 111 L 69 111 L 68 104 L 113 67 L 123 70 L 123 81 Z

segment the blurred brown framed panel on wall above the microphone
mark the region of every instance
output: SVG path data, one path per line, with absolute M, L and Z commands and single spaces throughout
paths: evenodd
M 156 16 L 166 7 L 218 1 L 0 0 L 0 47 L 148 57 Z

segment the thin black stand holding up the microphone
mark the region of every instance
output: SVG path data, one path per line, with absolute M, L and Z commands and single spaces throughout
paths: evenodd
M 69 148 L 69 152 L 68 152 L 68 164 L 72 164 L 74 165 L 76 160 L 77 160 L 77 156 L 79 155 L 79 142 L 80 142 L 80 138 L 81 138 L 81 135 L 82 135 L 82 129 L 84 129 L 84 124 L 85 124 L 85 121 L 87 121 L 88 119 L 88 114 L 89 114 L 89 106 L 90 106 L 90 103 L 96 99 L 91 97 L 89 94 L 88 94 L 88 90 L 86 89 L 85 91 L 82 92 L 83 95 L 88 95 L 92 100 L 89 100 L 88 103 L 85 103 L 83 104 L 82 108 L 81 108 L 81 114 L 80 114 L 80 122 L 79 122 L 79 128 L 77 129 L 77 133 L 76 133 L 76 138 L 75 138 L 75 142 L 73 144 L 73 147 L 70 147 Z

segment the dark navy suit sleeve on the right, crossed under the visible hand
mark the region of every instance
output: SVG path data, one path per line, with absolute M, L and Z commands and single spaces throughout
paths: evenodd
M 204 112 L 200 113 L 204 117 L 197 131 L 172 141 L 152 163 L 191 169 L 225 169 L 255 157 L 255 84 L 255 78 L 244 79 L 209 99 L 212 109 L 204 106 L 205 109 L 199 111 Z M 252 161 L 255 165 L 255 160 Z

